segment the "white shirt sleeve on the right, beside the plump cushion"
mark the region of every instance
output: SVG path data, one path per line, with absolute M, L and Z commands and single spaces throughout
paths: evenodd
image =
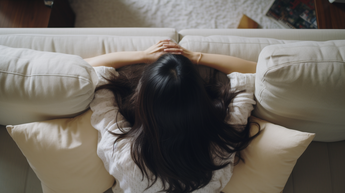
M 254 83 L 255 74 L 242 74 L 233 72 L 228 74 L 230 79 L 231 91 L 242 91 L 233 99 L 233 102 L 229 105 L 230 119 L 229 124 L 247 124 L 247 119 L 250 116 L 254 106 L 256 104 L 254 100 Z

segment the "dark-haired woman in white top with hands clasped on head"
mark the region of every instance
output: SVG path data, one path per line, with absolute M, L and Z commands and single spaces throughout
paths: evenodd
M 224 188 L 235 153 L 256 136 L 249 137 L 247 122 L 256 62 L 192 52 L 170 39 L 85 60 L 103 84 L 90 103 L 91 124 L 99 131 L 97 154 L 117 179 L 114 192 Z M 137 63 L 150 64 L 130 74 L 114 70 Z M 217 71 L 203 80 L 198 64 L 228 74 L 230 82 L 217 81 Z

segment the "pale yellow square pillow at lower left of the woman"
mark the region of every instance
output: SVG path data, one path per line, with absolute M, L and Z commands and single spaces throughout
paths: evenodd
M 113 185 L 114 177 L 97 155 L 91 114 L 6 127 L 41 180 L 43 193 L 103 193 Z

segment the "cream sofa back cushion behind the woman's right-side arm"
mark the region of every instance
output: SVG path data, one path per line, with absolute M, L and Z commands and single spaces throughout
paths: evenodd
M 194 52 L 231 55 L 257 62 L 261 50 L 267 45 L 292 42 L 298 42 L 298 40 L 246 38 L 234 35 L 211 35 L 208 37 L 186 35 L 179 42 L 179 45 Z

